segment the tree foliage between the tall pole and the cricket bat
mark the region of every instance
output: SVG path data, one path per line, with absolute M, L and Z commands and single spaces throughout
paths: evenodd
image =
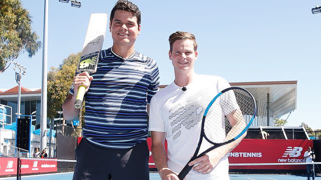
M 48 72 L 47 114 L 50 118 L 54 118 L 68 95 L 79 59 L 80 52 L 71 54 L 63 60 L 59 68 L 51 67 Z

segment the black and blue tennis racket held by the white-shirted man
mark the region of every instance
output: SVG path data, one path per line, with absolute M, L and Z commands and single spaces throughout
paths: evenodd
M 219 92 L 205 109 L 200 139 L 194 155 L 178 177 L 182 180 L 193 168 L 189 163 L 207 152 L 238 139 L 251 125 L 256 114 L 253 95 L 241 87 L 229 87 Z M 199 153 L 203 137 L 213 144 Z

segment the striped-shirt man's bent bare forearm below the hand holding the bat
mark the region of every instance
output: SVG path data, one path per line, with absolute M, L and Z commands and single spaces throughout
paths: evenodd
M 64 117 L 67 120 L 71 120 L 71 119 L 77 117 L 77 115 L 79 114 L 80 109 L 76 109 L 74 107 L 75 101 L 76 101 L 76 96 L 74 96 L 72 94 L 68 94 L 64 103 L 62 104 Z

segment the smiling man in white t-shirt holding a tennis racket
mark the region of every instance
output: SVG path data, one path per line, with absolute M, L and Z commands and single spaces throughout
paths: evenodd
M 192 33 L 177 31 L 170 36 L 169 41 L 169 57 L 174 66 L 175 80 L 152 97 L 149 108 L 151 151 L 163 180 L 179 179 L 178 173 L 195 152 L 202 117 L 208 103 L 218 92 L 230 87 L 222 77 L 199 75 L 194 72 L 198 52 Z M 238 140 L 190 162 L 189 165 L 194 167 L 185 178 L 229 179 L 227 153 L 244 136 L 245 134 Z M 168 143 L 168 154 L 164 147 L 165 139 Z M 206 140 L 203 140 L 203 143 L 205 145 L 202 144 L 200 152 L 210 147 Z

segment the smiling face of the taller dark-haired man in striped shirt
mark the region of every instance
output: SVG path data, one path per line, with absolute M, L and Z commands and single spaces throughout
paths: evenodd
M 131 12 L 117 9 L 112 21 L 109 22 L 109 31 L 114 44 L 132 45 L 140 32 L 140 25 Z

